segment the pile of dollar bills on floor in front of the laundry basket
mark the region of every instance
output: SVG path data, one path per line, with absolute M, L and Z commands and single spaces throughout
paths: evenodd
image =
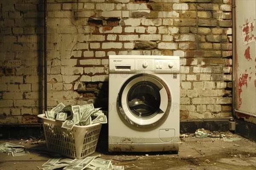
M 63 170 L 124 170 L 124 166 L 113 165 L 110 160 L 98 156 L 88 156 L 84 159 L 51 158 L 42 166 L 43 170 L 63 168 Z

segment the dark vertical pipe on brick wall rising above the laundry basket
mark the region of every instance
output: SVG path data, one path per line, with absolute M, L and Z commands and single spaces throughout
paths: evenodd
M 47 0 L 44 0 L 44 111 L 47 111 Z

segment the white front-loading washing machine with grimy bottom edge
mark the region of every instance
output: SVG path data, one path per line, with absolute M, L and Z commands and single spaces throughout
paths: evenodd
M 109 56 L 108 150 L 179 150 L 178 56 Z

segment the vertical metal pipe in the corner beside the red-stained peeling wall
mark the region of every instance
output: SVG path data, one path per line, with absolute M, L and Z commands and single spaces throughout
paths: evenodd
M 235 62 L 236 62 L 236 4 L 235 0 L 232 0 L 232 115 L 235 116 L 235 110 L 236 110 L 236 105 L 235 105 L 235 86 L 236 86 L 236 67 L 235 67 Z

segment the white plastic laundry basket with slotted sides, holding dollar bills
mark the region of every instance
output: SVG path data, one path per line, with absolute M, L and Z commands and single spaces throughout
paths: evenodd
M 72 130 L 62 128 L 63 122 L 38 115 L 43 120 L 47 150 L 63 156 L 84 159 L 96 150 L 101 123 L 87 126 L 75 125 Z

